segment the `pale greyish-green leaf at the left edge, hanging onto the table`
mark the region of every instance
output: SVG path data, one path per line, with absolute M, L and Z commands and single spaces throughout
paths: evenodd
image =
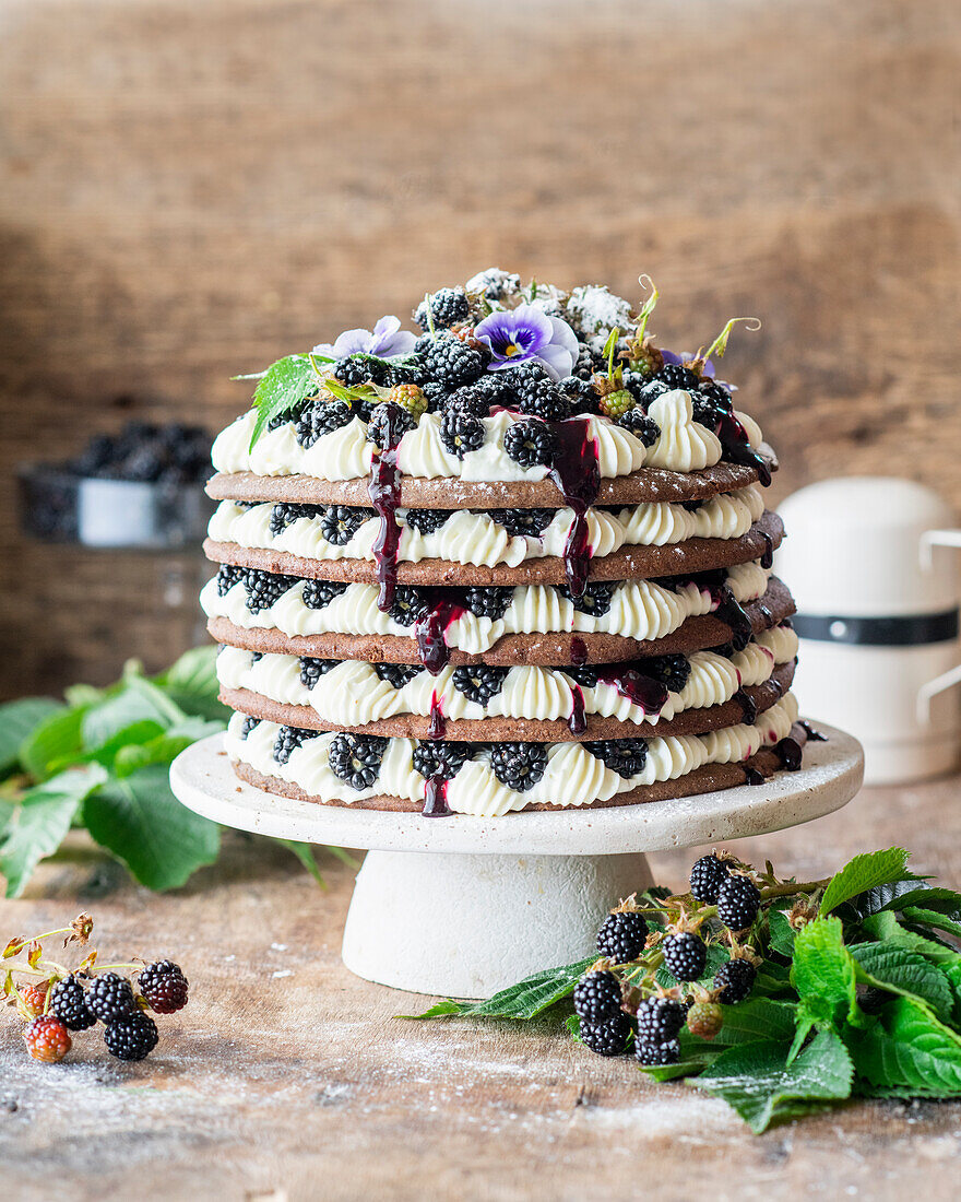
M 100 764 L 86 764 L 24 793 L 0 844 L 0 875 L 8 898 L 19 897 L 40 861 L 62 843 L 83 799 L 106 779 Z

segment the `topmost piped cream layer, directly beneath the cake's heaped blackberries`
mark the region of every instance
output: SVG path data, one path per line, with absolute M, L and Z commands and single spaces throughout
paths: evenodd
M 607 417 L 590 417 L 589 438 L 597 451 L 597 465 L 603 480 L 628 476 L 645 465 L 671 471 L 711 468 L 721 459 L 721 444 L 714 432 L 693 421 L 691 397 L 684 389 L 662 393 L 651 403 L 650 416 L 661 428 L 652 447 Z M 760 445 L 760 429 L 746 415 L 738 415 L 751 445 Z M 547 466 L 521 468 L 505 451 L 503 436 L 523 413 L 501 410 L 483 418 L 484 442 L 462 459 L 452 454 L 441 441 L 438 413 L 424 413 L 398 447 L 398 465 L 406 476 L 444 478 L 459 476 L 471 481 L 544 480 Z M 359 417 L 328 434 L 314 446 L 302 447 L 294 423 L 285 422 L 261 435 L 252 451 L 253 410 L 238 417 L 214 441 L 213 462 L 217 471 L 252 471 L 258 476 L 312 476 L 316 480 L 357 480 L 368 476 L 374 448 L 366 441 L 366 423 Z

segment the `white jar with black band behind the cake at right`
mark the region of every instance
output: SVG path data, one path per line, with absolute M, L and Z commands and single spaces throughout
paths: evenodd
M 828 480 L 789 496 L 775 570 L 794 594 L 801 712 L 864 744 L 865 781 L 950 772 L 961 746 L 961 530 L 908 480 Z

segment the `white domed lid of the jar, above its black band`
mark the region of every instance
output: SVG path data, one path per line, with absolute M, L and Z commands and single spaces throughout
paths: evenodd
M 775 571 L 804 614 L 884 617 L 938 613 L 959 601 L 957 552 L 921 557 L 926 530 L 955 517 L 911 480 L 849 476 L 808 484 L 778 506 L 787 537 Z

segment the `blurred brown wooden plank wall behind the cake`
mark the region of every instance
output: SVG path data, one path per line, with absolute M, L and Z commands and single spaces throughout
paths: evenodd
M 217 428 L 231 375 L 490 263 L 649 272 L 675 345 L 759 314 L 729 370 L 777 494 L 961 504 L 951 0 L 2 0 L 0 35 L 5 694 L 193 630 L 165 565 L 26 546 L 17 463 Z

